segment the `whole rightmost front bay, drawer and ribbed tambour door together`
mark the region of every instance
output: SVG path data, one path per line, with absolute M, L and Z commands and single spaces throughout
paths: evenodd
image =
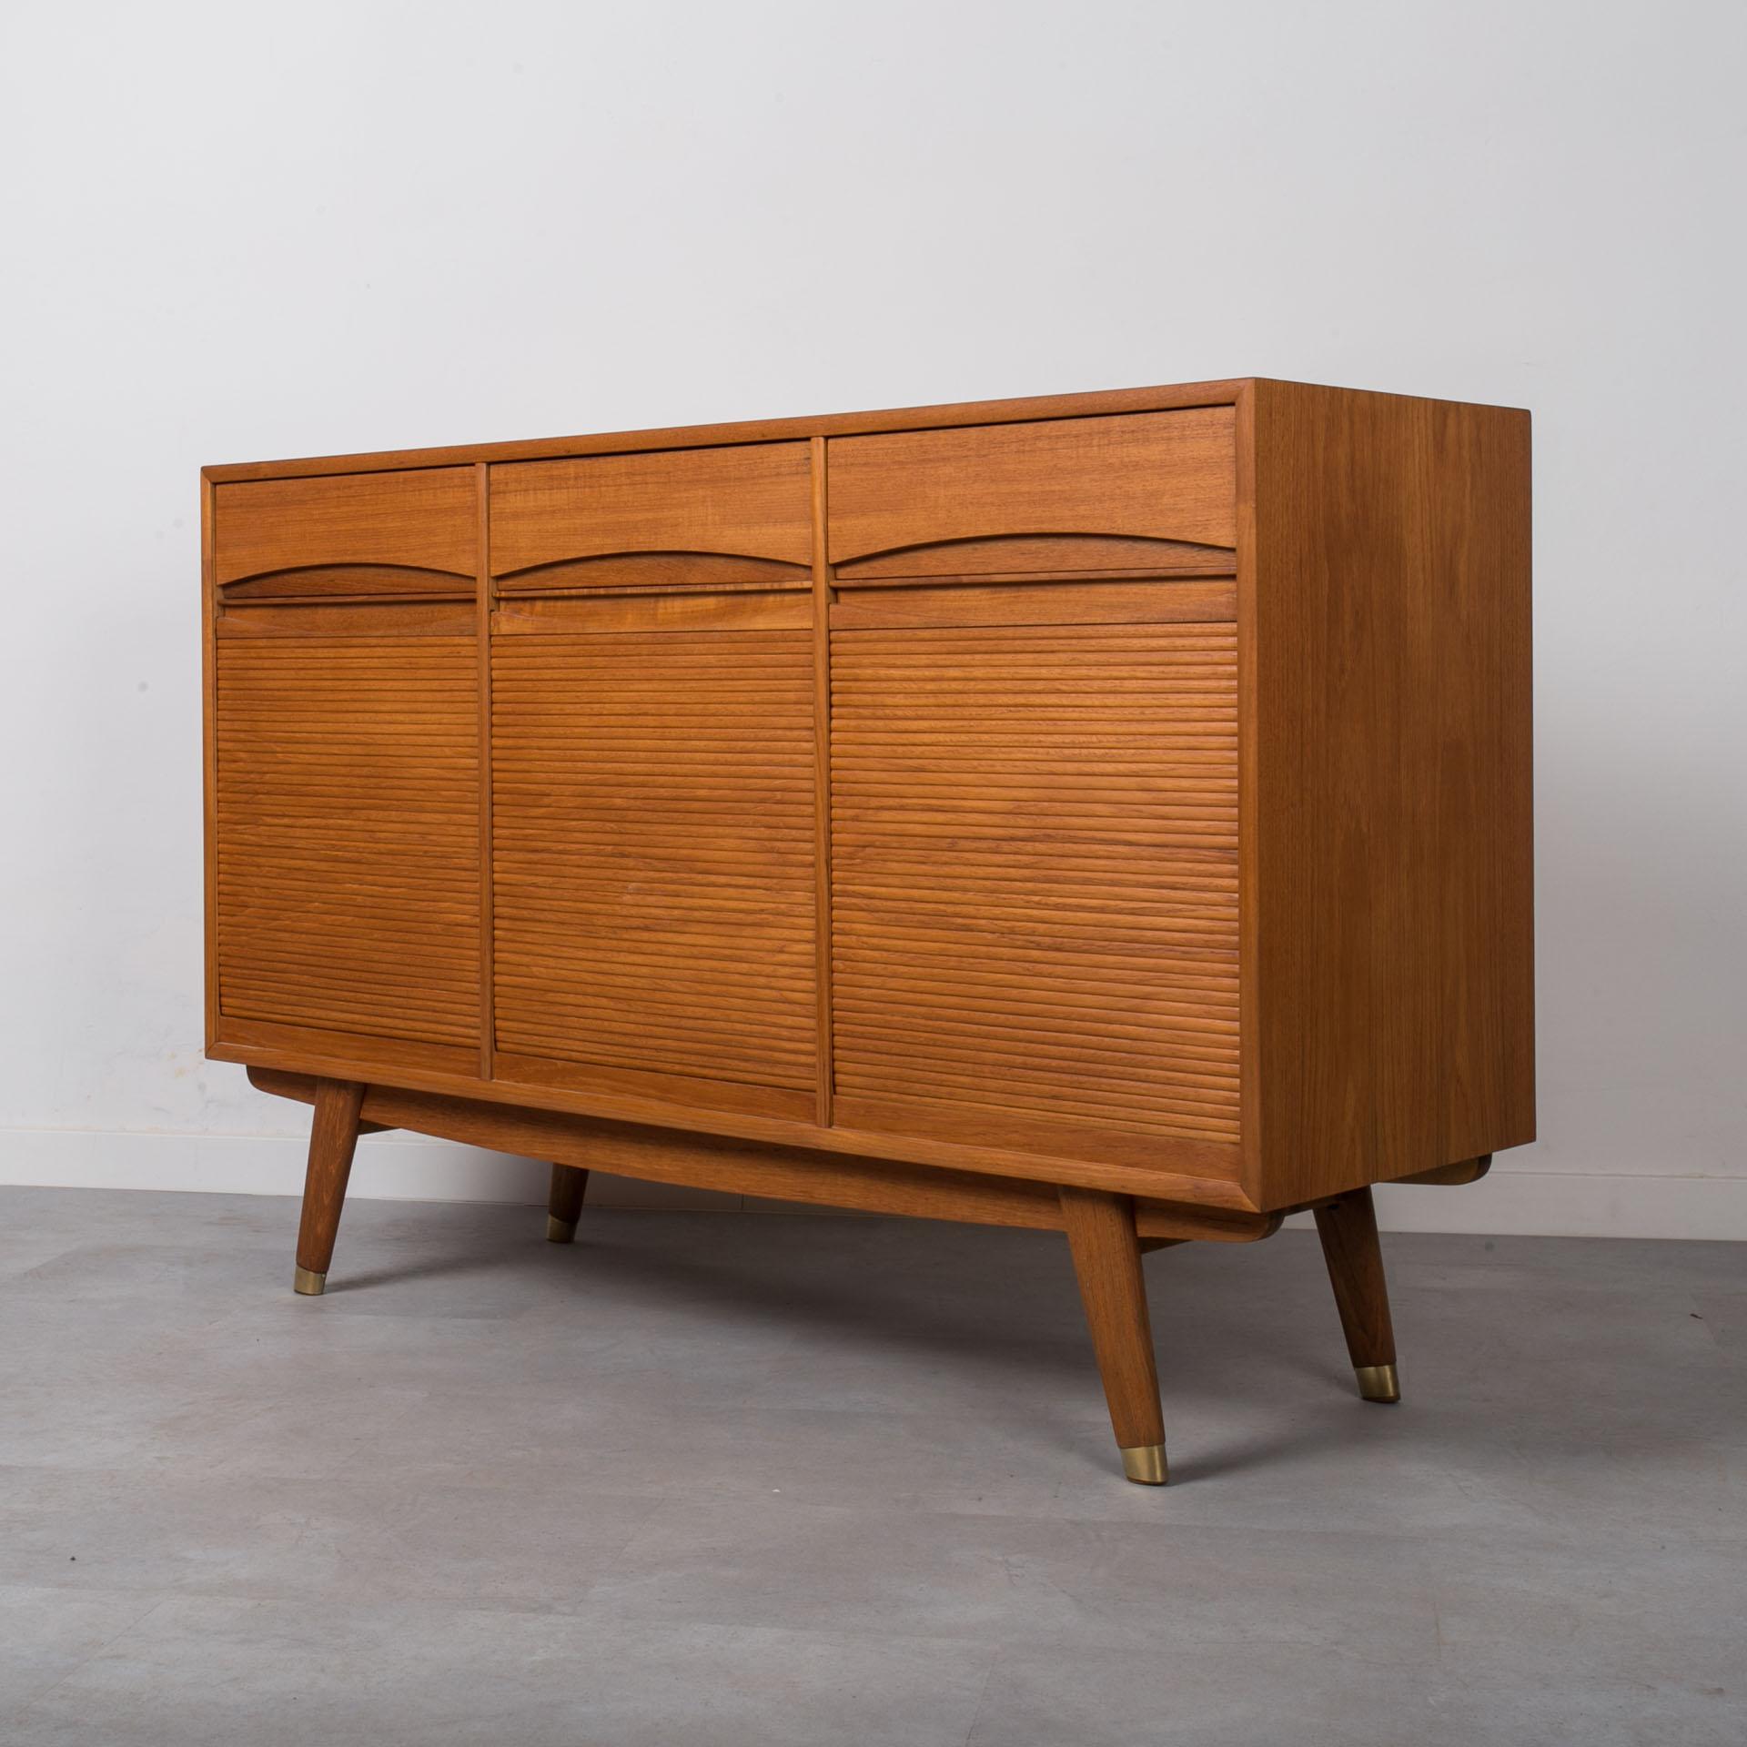
M 1232 409 L 828 456 L 837 1120 L 1235 1174 Z

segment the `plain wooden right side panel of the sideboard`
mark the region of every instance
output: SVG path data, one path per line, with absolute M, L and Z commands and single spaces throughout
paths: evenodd
M 1529 414 L 1254 388 L 1263 1204 L 1534 1137 Z

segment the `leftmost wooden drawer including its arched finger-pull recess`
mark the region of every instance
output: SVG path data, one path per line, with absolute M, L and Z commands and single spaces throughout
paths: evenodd
M 213 556 L 227 599 L 472 592 L 479 486 L 470 466 L 218 486 Z

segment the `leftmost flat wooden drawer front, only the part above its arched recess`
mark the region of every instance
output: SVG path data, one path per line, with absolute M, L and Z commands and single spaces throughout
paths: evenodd
M 411 564 L 473 575 L 470 466 L 218 486 L 217 582 L 307 564 Z

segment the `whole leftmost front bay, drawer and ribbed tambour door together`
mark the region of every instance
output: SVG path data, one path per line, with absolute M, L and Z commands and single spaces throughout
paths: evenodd
M 470 468 L 213 493 L 218 1041 L 479 1067 Z

